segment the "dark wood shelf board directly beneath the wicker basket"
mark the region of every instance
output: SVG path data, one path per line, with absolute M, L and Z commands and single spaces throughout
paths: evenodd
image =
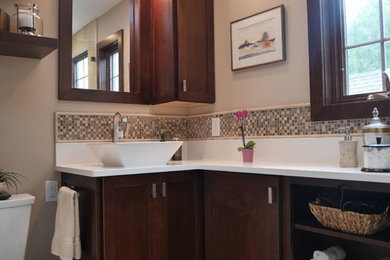
M 321 226 L 320 224 L 301 224 L 295 223 L 293 224 L 293 228 L 296 230 L 302 230 L 306 232 L 312 232 L 316 234 L 321 234 L 330 237 L 341 238 L 345 240 L 365 243 L 374 246 L 380 246 L 384 248 L 390 249 L 390 231 L 389 229 L 385 231 L 381 231 L 369 236 L 360 236 L 349 233 L 344 233 L 341 231 L 336 231 L 333 229 L 329 229 Z

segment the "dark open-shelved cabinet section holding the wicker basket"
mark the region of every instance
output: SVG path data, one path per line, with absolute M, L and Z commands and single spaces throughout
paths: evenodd
M 372 235 L 355 235 L 321 225 L 311 214 L 308 203 L 319 194 L 338 194 L 346 201 L 383 202 L 390 205 L 390 185 L 383 183 L 293 178 L 283 180 L 283 259 L 313 257 L 315 250 L 341 246 L 346 259 L 379 260 L 390 256 L 390 229 Z

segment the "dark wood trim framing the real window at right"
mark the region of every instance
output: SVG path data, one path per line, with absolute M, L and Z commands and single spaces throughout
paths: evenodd
M 343 27 L 336 18 L 342 11 L 339 2 L 307 0 L 311 119 L 369 118 L 374 107 L 381 116 L 390 116 L 390 100 L 367 101 L 367 94 L 343 95 Z

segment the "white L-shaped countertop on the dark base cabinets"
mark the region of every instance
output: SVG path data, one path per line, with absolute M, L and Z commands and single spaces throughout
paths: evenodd
M 390 173 L 362 172 L 360 168 L 340 168 L 337 166 L 318 165 L 276 165 L 253 164 L 243 165 L 231 161 L 176 161 L 167 165 L 153 167 L 104 167 L 101 164 L 64 164 L 57 165 L 59 172 L 72 173 L 87 177 L 109 177 L 158 172 L 175 172 L 187 170 L 210 170 L 236 173 L 251 173 L 276 176 L 321 178 L 333 180 L 366 181 L 390 183 Z

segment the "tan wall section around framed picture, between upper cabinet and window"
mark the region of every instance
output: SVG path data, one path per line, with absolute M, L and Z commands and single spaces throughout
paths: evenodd
M 286 62 L 232 72 L 230 22 L 284 4 Z M 305 0 L 214 0 L 216 103 L 190 114 L 309 102 Z

